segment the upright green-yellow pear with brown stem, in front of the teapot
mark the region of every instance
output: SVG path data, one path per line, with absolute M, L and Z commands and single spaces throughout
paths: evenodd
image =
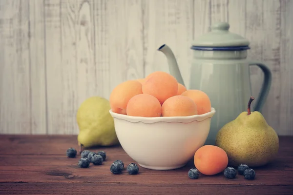
M 217 133 L 216 146 L 228 155 L 229 165 L 245 163 L 250 167 L 263 166 L 271 162 L 278 153 L 279 138 L 260 112 L 248 111 L 225 124 Z

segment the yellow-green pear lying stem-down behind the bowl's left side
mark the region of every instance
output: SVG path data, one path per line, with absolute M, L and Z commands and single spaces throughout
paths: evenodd
M 76 115 L 79 134 L 78 144 L 83 148 L 112 146 L 119 143 L 115 132 L 114 119 L 109 113 L 110 102 L 102 97 L 87 98 Z

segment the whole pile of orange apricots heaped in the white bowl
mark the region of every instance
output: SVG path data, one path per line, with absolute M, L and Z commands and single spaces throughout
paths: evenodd
M 187 90 L 172 75 L 156 71 L 146 78 L 127 80 L 111 92 L 111 109 L 134 117 L 180 117 L 210 112 L 206 93 Z

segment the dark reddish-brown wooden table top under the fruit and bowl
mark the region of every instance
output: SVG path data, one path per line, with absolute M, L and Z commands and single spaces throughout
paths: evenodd
M 66 150 L 78 150 L 76 136 L 0 135 L 0 194 L 70 195 L 292 195 L 293 137 L 280 136 L 277 158 L 269 165 L 255 168 L 255 179 L 237 174 L 200 175 L 190 179 L 192 160 L 183 168 L 168 171 L 139 167 L 138 175 L 113 175 L 110 165 L 121 159 L 125 167 L 134 162 L 121 146 L 104 150 L 103 165 L 83 169 L 77 166 L 80 155 L 67 158 Z M 174 155 L 174 154 L 173 154 Z

